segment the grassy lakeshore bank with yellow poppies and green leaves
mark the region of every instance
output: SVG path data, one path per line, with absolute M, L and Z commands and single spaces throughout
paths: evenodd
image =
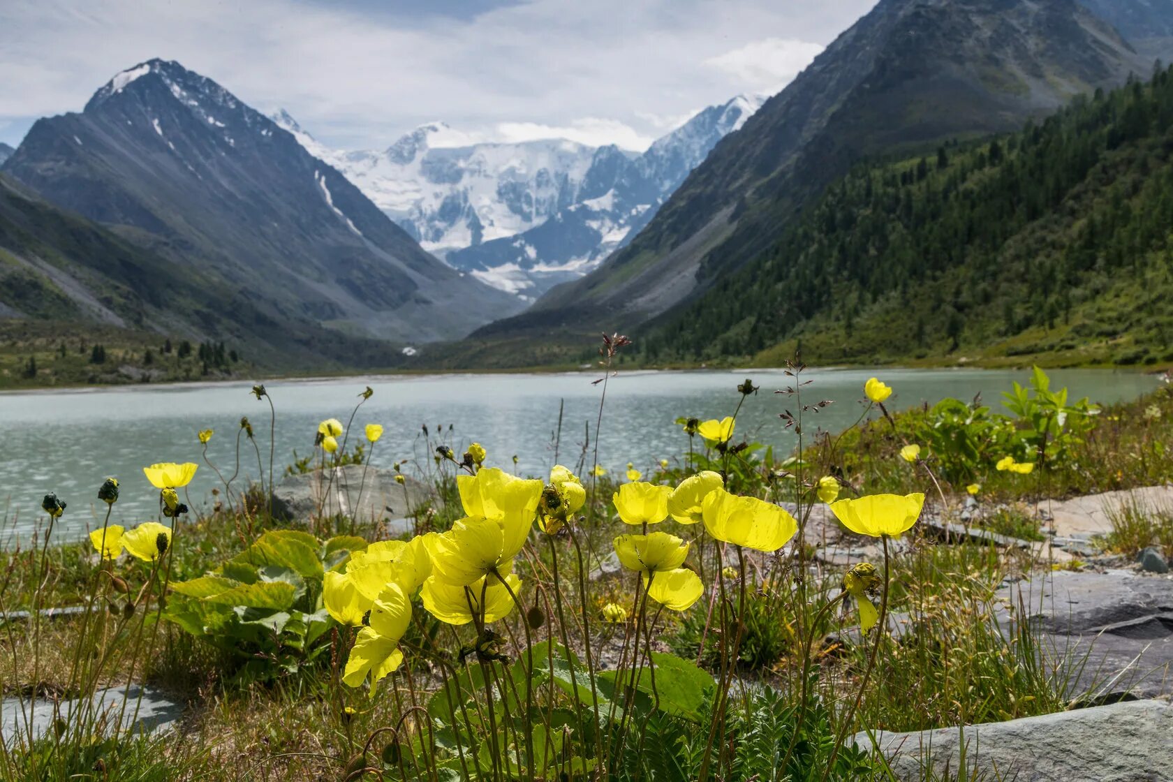
M 801 430 L 822 400 L 794 374 L 777 400 Z M 565 471 L 513 481 L 499 455 L 432 433 L 430 458 L 396 465 L 428 488 L 405 544 L 380 518 L 276 518 L 257 484 L 223 487 L 218 508 L 191 519 L 164 489 L 162 526 L 127 537 L 113 558 L 45 538 L 7 552 L 0 612 L 87 611 L 0 627 L 6 696 L 66 701 L 133 681 L 187 710 L 158 737 L 115 730 L 110 715 L 65 714 L 32 742 L 12 736 L 0 778 L 886 778 L 882 760 L 846 736 L 1066 708 L 1080 658 L 984 619 L 1004 579 L 1046 562 L 937 545 L 911 523 L 918 499 L 903 533 L 853 532 L 826 514 L 828 478 L 839 499 L 920 492 L 927 515 L 947 518 L 974 496 L 984 523 L 1037 535 L 1039 519 L 1023 510 L 1031 499 L 1164 481 L 1167 389 L 1096 410 L 1037 376 L 1006 417 L 957 400 L 889 412 L 873 389 L 881 401 L 859 424 L 804 437 L 796 455 L 738 435 L 739 400 L 773 390 L 731 388 L 728 422 L 682 410 L 689 450 L 645 475 L 595 475 L 588 449 Z M 355 443 L 381 434 L 355 409 L 323 422 L 301 468 L 323 496 L 337 489 L 330 468 L 354 463 Z M 599 415 L 606 426 L 605 386 Z M 1006 457 L 1031 469 L 998 469 Z M 693 508 L 696 476 L 707 491 Z M 741 515 L 698 498 L 717 490 Z M 679 503 L 662 504 L 670 495 Z M 1104 545 L 1126 550 L 1146 531 L 1160 539 L 1164 519 L 1134 516 Z M 657 538 L 667 549 L 689 548 L 645 582 L 626 567 L 635 544 L 624 536 L 660 531 L 676 536 Z M 872 545 L 874 567 L 816 556 L 820 538 L 839 536 Z M 652 567 L 651 550 L 638 551 Z M 910 624 L 888 632 L 869 607 L 873 619 Z

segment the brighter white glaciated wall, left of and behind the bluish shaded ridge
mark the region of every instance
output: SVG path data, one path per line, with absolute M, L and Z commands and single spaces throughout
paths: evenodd
M 284 109 L 272 120 L 441 258 L 521 233 L 574 204 L 595 152 L 558 138 L 470 144 L 442 122 L 381 152 L 341 151 L 319 143 Z

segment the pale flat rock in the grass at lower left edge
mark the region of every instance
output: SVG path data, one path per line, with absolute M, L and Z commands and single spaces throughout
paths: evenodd
M 142 700 L 138 700 L 140 693 Z M 126 712 L 122 703 L 126 701 Z M 23 700 L 6 698 L 0 701 L 0 737 L 6 746 L 13 747 L 21 742 L 28 742 L 29 727 L 32 727 L 33 740 L 38 740 L 48 733 L 53 727 L 53 721 L 61 716 L 69 725 L 74 725 L 81 716 L 82 700 L 65 700 L 54 703 L 43 698 Z M 93 710 L 89 713 L 95 725 L 104 723 L 108 732 L 117 725 L 122 716 L 122 729 L 130 733 L 155 733 L 168 730 L 183 715 L 183 705 L 177 703 L 158 691 L 138 685 L 128 687 L 110 687 L 100 689 L 91 700 Z M 137 709 L 136 709 L 137 706 Z

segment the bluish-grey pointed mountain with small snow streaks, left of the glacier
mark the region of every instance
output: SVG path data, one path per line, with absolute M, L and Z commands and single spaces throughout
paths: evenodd
M 244 307 L 232 320 L 272 326 L 280 351 L 298 352 L 292 324 L 416 342 L 516 308 L 425 252 L 289 132 L 176 62 L 141 63 L 83 111 L 38 121 L 2 170 L 232 292 Z

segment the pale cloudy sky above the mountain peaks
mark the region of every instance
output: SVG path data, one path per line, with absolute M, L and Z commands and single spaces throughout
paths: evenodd
M 178 60 L 333 147 L 425 122 L 642 149 L 774 93 L 875 0 L 4 0 L 0 141 L 115 73 Z

